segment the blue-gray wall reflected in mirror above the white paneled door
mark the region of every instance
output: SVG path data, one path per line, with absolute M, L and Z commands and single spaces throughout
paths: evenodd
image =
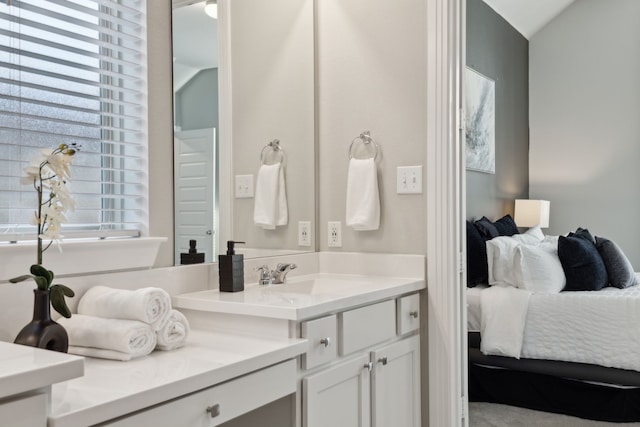
M 176 92 L 176 126 L 218 129 L 218 69 L 200 70 Z

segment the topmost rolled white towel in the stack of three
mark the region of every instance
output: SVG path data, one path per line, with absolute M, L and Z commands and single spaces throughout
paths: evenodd
M 154 331 L 169 316 L 171 297 L 160 288 L 136 290 L 113 289 L 106 286 L 90 288 L 78 303 L 78 314 L 111 319 L 139 320 Z

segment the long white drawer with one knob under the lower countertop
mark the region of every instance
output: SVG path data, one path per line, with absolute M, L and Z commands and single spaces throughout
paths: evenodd
M 100 426 L 212 427 L 295 392 L 289 360 Z

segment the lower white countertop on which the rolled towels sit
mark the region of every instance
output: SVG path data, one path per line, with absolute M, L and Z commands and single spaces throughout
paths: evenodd
M 127 362 L 86 358 L 85 375 L 53 386 L 49 427 L 86 427 L 293 358 L 300 339 L 191 331 L 187 345 Z

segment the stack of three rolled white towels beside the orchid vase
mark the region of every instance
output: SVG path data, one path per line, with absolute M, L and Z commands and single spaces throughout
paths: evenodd
M 115 360 L 179 348 L 190 330 L 169 294 L 155 287 L 95 286 L 80 299 L 78 314 L 59 323 L 69 334 L 69 353 Z

